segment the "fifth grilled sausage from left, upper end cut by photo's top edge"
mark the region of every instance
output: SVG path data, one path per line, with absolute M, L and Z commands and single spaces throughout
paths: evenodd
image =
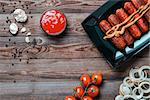
M 131 1 L 137 9 L 140 8 L 142 5 L 146 4 L 143 0 L 131 0 Z M 150 2 L 150 0 L 148 0 L 148 2 Z M 145 13 L 144 17 L 150 23 L 150 10 L 147 13 Z

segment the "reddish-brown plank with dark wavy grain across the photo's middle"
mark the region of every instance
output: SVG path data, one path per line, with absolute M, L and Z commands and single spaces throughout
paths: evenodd
M 91 44 L 66 44 L 66 45 L 46 45 L 46 46 L 29 46 L 15 45 L 10 47 L 0 47 L 0 58 L 103 58 L 104 56 Z M 145 49 L 140 57 L 149 57 L 149 48 Z

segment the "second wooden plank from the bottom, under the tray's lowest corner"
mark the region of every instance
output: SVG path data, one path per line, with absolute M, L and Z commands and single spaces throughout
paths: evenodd
M 127 76 L 131 67 L 138 68 L 143 65 L 149 65 L 147 58 L 135 58 L 120 67 L 123 71 L 119 72 L 111 70 L 106 61 L 99 58 L 66 60 L 32 59 L 31 61 L 22 60 L 21 62 L 19 60 L 10 60 L 7 63 L 0 64 L 0 82 L 79 79 L 83 73 L 92 74 L 97 71 L 103 73 L 105 80 L 117 80 Z

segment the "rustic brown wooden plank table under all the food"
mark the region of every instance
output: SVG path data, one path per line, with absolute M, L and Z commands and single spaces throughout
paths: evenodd
M 79 85 L 81 74 L 96 71 L 104 76 L 97 100 L 113 100 L 132 66 L 149 65 L 147 48 L 123 71 L 113 71 L 92 44 L 81 22 L 105 0 L 61 1 L 54 7 L 51 0 L 0 0 L 0 100 L 63 100 Z M 25 43 L 25 33 L 15 37 L 9 33 L 10 21 L 14 22 L 10 14 L 16 8 L 28 13 L 24 26 L 30 28 L 32 37 L 42 37 L 43 45 Z M 59 38 L 47 37 L 39 24 L 41 13 L 53 8 L 64 12 L 68 20 L 67 31 Z

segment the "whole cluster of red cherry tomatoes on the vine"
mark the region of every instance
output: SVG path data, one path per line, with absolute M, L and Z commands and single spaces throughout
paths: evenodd
M 89 74 L 83 74 L 80 77 L 81 86 L 73 89 L 73 96 L 66 96 L 64 100 L 93 100 L 100 93 L 98 88 L 103 80 L 101 73 L 94 73 L 91 77 Z

